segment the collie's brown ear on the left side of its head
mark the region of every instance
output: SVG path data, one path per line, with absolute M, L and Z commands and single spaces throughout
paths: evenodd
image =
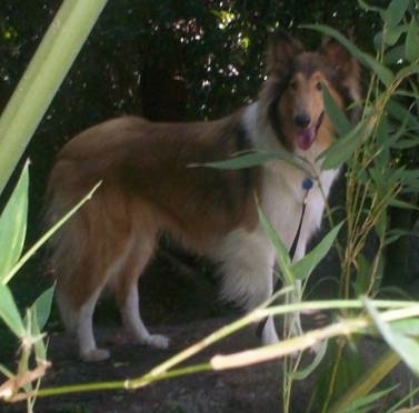
M 270 39 L 267 53 L 267 75 L 280 78 L 293 58 L 303 51 L 302 44 L 283 30 L 277 30 Z

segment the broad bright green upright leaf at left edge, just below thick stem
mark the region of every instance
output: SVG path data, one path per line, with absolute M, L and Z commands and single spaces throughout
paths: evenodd
M 18 184 L 0 216 L 0 283 L 22 253 L 28 218 L 29 171 L 26 163 Z

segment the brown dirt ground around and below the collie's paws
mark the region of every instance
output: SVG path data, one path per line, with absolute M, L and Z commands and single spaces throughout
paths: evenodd
M 64 333 L 50 339 L 49 355 L 52 367 L 42 387 L 62 384 L 94 383 L 136 379 L 147 373 L 170 355 L 186 349 L 203 336 L 225 325 L 232 318 L 208 319 L 188 324 L 152 329 L 167 334 L 172 345 L 169 350 L 156 350 L 134 345 L 117 326 L 98 329 L 98 341 L 112 353 L 108 361 L 82 363 L 77 360 L 74 341 Z M 309 323 L 311 321 L 309 320 Z M 307 323 L 306 323 L 307 324 Z M 231 353 L 258 345 L 253 328 L 246 328 L 191 359 L 188 364 L 199 364 L 212 355 Z M 372 363 L 383 351 L 381 342 L 366 340 L 361 353 L 366 363 Z M 311 357 L 311 356 L 310 356 Z M 318 374 L 295 382 L 291 412 L 305 412 Z M 406 394 L 412 384 L 412 375 L 401 365 L 392 373 L 387 386 L 398 384 L 392 401 Z M 239 413 L 281 412 L 281 362 L 273 361 L 239 370 L 204 372 L 157 382 L 134 391 L 102 391 L 76 393 L 39 399 L 36 412 L 99 413 Z M 390 401 L 389 401 L 390 403 Z M 381 407 L 385 407 L 381 405 Z M 379 407 L 377 412 L 382 412 Z M 23 412 L 23 405 L 14 405 L 7 412 Z M 316 412 L 316 410 L 311 410 Z

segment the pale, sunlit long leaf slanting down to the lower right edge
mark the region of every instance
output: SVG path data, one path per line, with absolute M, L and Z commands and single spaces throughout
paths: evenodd
M 400 359 L 419 375 L 419 344 L 416 340 L 399 331 L 382 320 L 380 313 L 367 298 L 362 298 L 363 305 L 371 316 L 375 326 L 386 340 L 387 344 L 400 356 Z

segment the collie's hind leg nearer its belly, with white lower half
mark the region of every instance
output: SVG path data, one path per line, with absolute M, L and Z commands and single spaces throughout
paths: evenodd
M 149 333 L 141 319 L 139 308 L 138 279 L 146 268 L 152 250 L 153 245 L 144 244 L 140 250 L 136 248 L 131 250 L 124 269 L 114 280 L 114 289 L 122 322 L 128 333 L 140 344 L 167 349 L 169 339 L 164 335 Z

